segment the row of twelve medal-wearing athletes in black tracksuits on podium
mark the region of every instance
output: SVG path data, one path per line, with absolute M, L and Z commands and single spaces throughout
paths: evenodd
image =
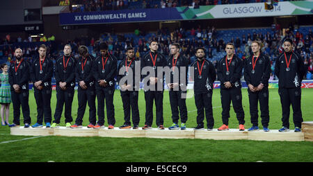
M 291 39 L 284 40 L 284 52 L 278 56 L 275 61 L 275 75 L 279 78 L 279 94 L 282 104 L 282 128 L 280 132 L 289 131 L 290 105 L 294 111 L 295 132 L 300 132 L 301 122 L 303 121 L 300 109 L 301 82 L 305 75 L 303 59 L 293 51 L 293 42 Z M 220 80 L 220 100 L 222 103 L 223 125 L 218 130 L 229 130 L 228 120 L 230 118 L 230 103 L 232 102 L 236 118 L 239 121 L 239 130 L 245 130 L 244 112 L 242 107 L 241 95 L 241 75 L 248 85 L 248 98 L 250 104 L 250 116 L 252 127 L 248 130 L 259 130 L 258 127 L 258 103 L 262 118 L 262 127 L 268 132 L 269 110 L 268 110 L 268 79 L 271 72 L 271 63 L 266 55 L 261 52 L 261 44 L 257 41 L 252 42 L 252 55 L 241 60 L 234 54 L 234 44 L 228 43 L 225 46 L 226 55 L 214 65 L 205 58 L 205 49 L 195 50 L 196 60 L 190 63 L 188 58 L 179 54 L 179 44 L 170 46 L 170 55 L 166 58 L 158 53 L 158 42 L 150 41 L 150 51 L 138 60 L 134 57 L 134 49 L 128 48 L 126 58 L 118 62 L 114 55 L 108 52 L 108 45 L 104 42 L 100 44 L 101 55 L 94 58 L 88 53 L 86 46 L 79 47 L 79 60 L 72 58 L 72 49 L 70 45 L 65 45 L 63 55 L 56 59 L 56 64 L 46 57 L 47 47 L 41 45 L 38 49 L 39 58 L 29 63 L 23 60 L 22 49 L 15 50 L 15 61 L 9 67 L 9 83 L 11 86 L 13 100 L 14 120 L 10 127 L 19 127 L 20 107 L 24 116 L 24 127 L 31 126 L 31 117 L 29 112 L 29 80 L 33 82 L 34 96 L 37 104 L 38 116 L 37 122 L 31 127 L 42 127 L 45 121 L 46 127 L 58 127 L 63 105 L 65 105 L 65 124 L 66 127 L 82 127 L 83 115 L 86 105 L 89 106 L 89 125 L 88 128 L 104 128 L 104 100 L 106 101 L 106 116 L 108 120 L 108 129 L 113 129 L 115 125 L 115 109 L 113 105 L 113 96 L 115 91 L 115 76 L 118 82 L 131 77 L 137 80 L 136 73 L 138 69 L 140 80 L 145 79 L 145 125 L 143 130 L 152 128 L 153 123 L 153 101 L 156 106 L 156 124 L 159 130 L 164 130 L 163 126 L 163 77 L 164 73 L 157 75 L 158 69 L 169 67 L 173 69 L 169 77 L 166 78 L 169 88 L 170 107 L 172 111 L 172 125 L 169 130 L 186 130 L 186 121 L 188 113 L 186 107 L 186 80 L 188 69 L 193 69 L 193 91 L 195 105 L 197 107 L 197 126 L 194 130 L 204 130 L 204 116 L 207 120 L 207 130 L 214 128 L 214 116 L 212 109 L 213 83 L 216 75 Z M 136 63 L 140 62 L 140 67 L 136 68 Z M 150 68 L 154 75 L 147 75 L 149 71 L 143 71 L 143 68 Z M 181 74 L 184 68 L 184 76 Z M 122 74 L 120 70 L 123 69 Z M 137 69 L 137 71 L 136 71 Z M 152 70 L 151 70 L 152 69 Z M 216 71 L 217 69 L 217 71 Z M 131 71 L 129 71 L 131 70 Z M 176 71 L 178 70 L 178 71 Z M 131 73 L 132 74 L 128 74 Z M 163 71 L 162 71 L 163 72 Z M 145 73 L 145 74 L 144 74 Z M 54 121 L 51 124 L 51 78 L 56 78 L 56 109 Z M 174 78 L 178 78 L 178 81 Z M 138 129 L 140 121 L 138 110 L 138 81 L 127 84 L 126 81 L 120 85 L 120 95 L 124 109 L 125 123 L 120 126 L 121 129 Z M 177 79 L 176 79 L 177 80 Z M 74 98 L 75 82 L 78 82 L 77 98 L 79 107 L 77 109 L 77 118 L 74 125 L 71 125 L 72 101 Z M 153 89 L 154 88 L 154 89 Z M 95 98 L 97 97 L 97 111 Z M 204 113 L 205 112 L 205 113 Z M 98 120 L 96 118 L 96 113 Z M 130 116 L 132 119 L 130 119 Z M 179 125 L 179 116 L 181 124 Z

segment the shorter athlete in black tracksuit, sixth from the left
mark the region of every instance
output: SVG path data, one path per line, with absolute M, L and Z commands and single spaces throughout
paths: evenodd
M 131 51 L 134 53 L 134 49 L 127 49 L 127 53 Z M 123 109 L 124 109 L 124 120 L 125 123 L 120 128 L 130 128 L 130 114 L 132 117 L 134 129 L 138 129 L 138 124 L 140 121 L 139 109 L 138 109 L 138 90 L 140 88 L 140 69 L 138 58 L 126 57 L 122 62 L 120 62 L 118 66 L 118 83 L 120 85 L 120 96 L 122 98 Z M 124 79 L 131 79 L 132 82 L 128 82 L 127 80 L 123 82 Z M 122 82 L 120 82 L 122 80 Z M 137 81 L 137 82 L 136 82 Z M 124 84 L 123 84 L 124 83 Z M 129 89 L 123 89 L 125 87 L 129 87 Z

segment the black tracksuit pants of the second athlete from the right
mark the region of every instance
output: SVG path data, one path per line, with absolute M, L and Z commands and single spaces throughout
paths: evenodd
M 269 112 L 268 112 L 268 88 L 264 87 L 261 91 L 252 92 L 248 88 L 249 104 L 250 104 L 250 116 L 253 126 L 258 126 L 259 114 L 257 110 L 257 104 L 259 103 L 262 126 L 268 127 Z

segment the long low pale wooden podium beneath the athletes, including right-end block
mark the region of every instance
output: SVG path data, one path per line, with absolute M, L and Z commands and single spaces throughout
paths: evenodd
M 227 131 L 218 131 L 214 129 L 212 131 L 197 130 L 192 128 L 186 130 L 158 130 L 152 128 L 151 130 L 142 130 L 141 127 L 138 130 L 127 129 L 121 130 L 118 127 L 109 130 L 107 127 L 102 129 L 90 129 L 82 127 L 78 129 L 72 129 L 70 127 L 57 127 L 57 128 L 24 128 L 24 127 L 12 127 L 10 128 L 10 134 L 22 135 L 22 136 L 63 136 L 63 137 L 146 137 L 157 139 L 214 139 L 214 140 L 255 140 L 255 141 L 313 141 L 313 121 L 303 123 L 303 132 L 278 132 L 278 130 L 270 130 L 264 132 L 263 130 L 243 132 L 239 129 L 230 129 Z

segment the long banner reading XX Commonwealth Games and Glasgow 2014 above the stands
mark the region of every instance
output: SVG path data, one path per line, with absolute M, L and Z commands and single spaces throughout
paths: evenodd
M 239 3 L 231 5 L 200 6 L 200 8 L 177 7 L 60 13 L 60 24 L 108 24 L 310 14 L 313 14 L 313 1 L 283 1 L 274 6 L 273 10 L 266 10 L 264 3 Z

